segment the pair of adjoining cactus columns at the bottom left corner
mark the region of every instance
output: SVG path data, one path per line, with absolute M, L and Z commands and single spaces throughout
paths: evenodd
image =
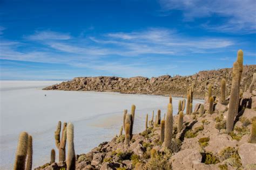
M 19 134 L 18 147 L 14 163 L 15 170 L 32 169 L 32 137 L 28 133 Z

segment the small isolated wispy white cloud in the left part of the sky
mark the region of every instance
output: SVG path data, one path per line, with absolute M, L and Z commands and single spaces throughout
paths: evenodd
M 70 34 L 64 34 L 53 31 L 36 31 L 35 34 L 26 37 L 30 40 L 69 40 Z

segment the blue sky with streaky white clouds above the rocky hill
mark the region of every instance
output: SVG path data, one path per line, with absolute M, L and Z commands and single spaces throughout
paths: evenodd
M 256 1 L 0 1 L 2 80 L 191 75 L 256 64 Z

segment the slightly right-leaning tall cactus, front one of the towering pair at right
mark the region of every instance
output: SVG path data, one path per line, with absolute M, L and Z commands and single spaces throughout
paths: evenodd
M 234 118 L 237 115 L 237 98 L 239 95 L 239 63 L 236 61 L 233 64 L 233 73 L 232 73 L 232 85 L 231 85 L 231 94 L 230 94 L 230 104 L 228 108 L 227 115 L 227 133 L 230 133 L 233 130 Z

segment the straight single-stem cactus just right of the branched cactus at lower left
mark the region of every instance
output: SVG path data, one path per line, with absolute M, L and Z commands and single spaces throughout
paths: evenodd
M 68 139 L 68 157 L 66 159 L 66 169 L 76 169 L 76 154 L 74 147 L 74 126 L 72 123 L 68 124 L 66 128 L 66 138 Z

